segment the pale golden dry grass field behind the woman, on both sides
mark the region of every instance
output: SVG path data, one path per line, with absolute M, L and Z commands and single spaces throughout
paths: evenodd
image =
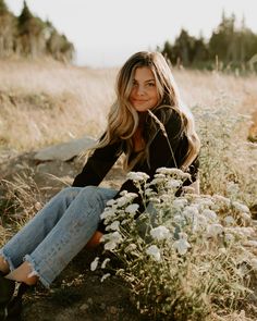
M 173 73 L 189 107 L 216 110 L 217 104 L 228 104 L 255 122 L 242 134 L 256 135 L 256 76 Z M 115 74 L 115 69 L 53 61 L 0 61 L 0 146 L 30 150 L 84 134 L 99 135 L 113 99 Z

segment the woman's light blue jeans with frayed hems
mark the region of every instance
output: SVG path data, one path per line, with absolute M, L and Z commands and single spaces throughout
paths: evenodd
M 33 275 L 49 287 L 97 231 L 106 202 L 117 190 L 66 187 L 58 193 L 2 249 L 14 270 L 28 261 Z

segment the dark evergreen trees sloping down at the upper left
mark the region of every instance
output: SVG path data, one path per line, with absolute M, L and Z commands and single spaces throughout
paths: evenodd
M 50 21 L 33 15 L 26 1 L 21 14 L 15 16 L 4 0 L 0 0 L 0 58 L 50 55 L 72 61 L 74 51 L 73 44 Z

